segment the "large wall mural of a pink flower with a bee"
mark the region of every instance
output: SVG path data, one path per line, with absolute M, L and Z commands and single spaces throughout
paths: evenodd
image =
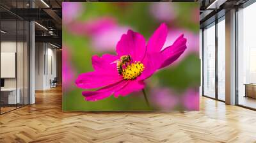
M 63 110 L 199 110 L 197 3 L 63 3 Z

